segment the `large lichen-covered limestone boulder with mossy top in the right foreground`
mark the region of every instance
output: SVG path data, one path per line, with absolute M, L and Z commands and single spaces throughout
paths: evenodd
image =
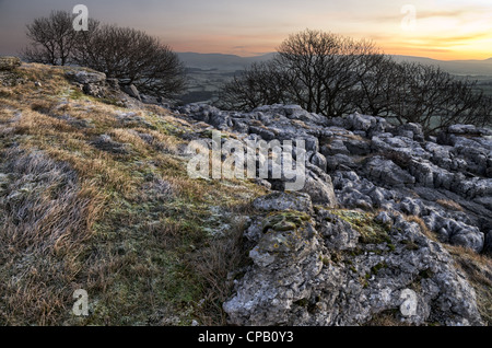
M 254 219 L 253 264 L 223 303 L 231 325 L 353 326 L 388 313 L 394 323 L 483 325 L 449 253 L 398 213 L 320 208 Z

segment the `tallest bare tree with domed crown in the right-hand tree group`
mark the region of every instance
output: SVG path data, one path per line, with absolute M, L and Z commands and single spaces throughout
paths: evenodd
M 363 58 L 376 49 L 367 40 L 306 30 L 285 39 L 278 53 L 292 98 L 309 112 L 341 116 L 350 112 L 350 92 L 367 71 Z

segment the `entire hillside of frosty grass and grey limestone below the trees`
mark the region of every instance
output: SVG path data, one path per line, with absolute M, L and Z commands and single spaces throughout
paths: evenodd
M 487 129 L 424 139 L 295 105 L 172 111 L 99 72 L 36 63 L 0 85 L 2 325 L 492 323 Z M 301 189 L 292 167 L 273 175 L 274 152 L 253 154 L 271 159 L 267 177 L 190 176 L 192 141 L 294 139 L 304 149 L 281 149 Z

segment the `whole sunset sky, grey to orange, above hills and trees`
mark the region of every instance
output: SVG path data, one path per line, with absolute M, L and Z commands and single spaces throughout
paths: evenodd
M 27 44 L 34 19 L 79 3 L 91 18 L 142 30 L 175 51 L 257 56 L 311 28 L 368 38 L 391 55 L 492 57 L 492 0 L 0 0 L 0 55 Z

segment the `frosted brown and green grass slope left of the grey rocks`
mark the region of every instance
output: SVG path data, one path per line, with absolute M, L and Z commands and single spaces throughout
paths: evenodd
M 15 74 L 25 83 L 0 86 L 0 324 L 223 324 L 238 217 L 261 188 L 188 178 L 195 129 L 166 109 L 87 97 L 62 68 Z M 72 314 L 77 289 L 87 317 Z

